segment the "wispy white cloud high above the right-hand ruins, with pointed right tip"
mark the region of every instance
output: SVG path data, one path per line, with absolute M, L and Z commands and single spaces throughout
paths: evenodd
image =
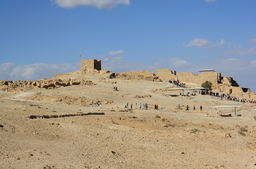
M 185 46 L 185 47 L 196 46 L 196 47 L 199 47 L 199 48 L 202 47 L 202 48 L 206 48 L 206 49 L 211 49 L 211 48 L 214 48 L 216 46 L 222 46 L 222 45 L 224 45 L 224 43 L 225 43 L 225 40 L 223 40 L 223 39 L 221 39 L 220 42 L 218 42 L 217 44 L 212 44 L 207 39 L 194 38 L 188 44 L 183 42 L 182 46 Z

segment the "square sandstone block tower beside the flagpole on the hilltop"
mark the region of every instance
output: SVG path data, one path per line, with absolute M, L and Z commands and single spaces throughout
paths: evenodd
M 101 70 L 101 60 L 90 59 L 90 60 L 81 60 L 81 70 L 86 70 L 90 72 Z

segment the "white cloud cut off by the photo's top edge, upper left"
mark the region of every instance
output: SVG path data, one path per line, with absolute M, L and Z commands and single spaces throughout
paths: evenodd
M 74 8 L 77 6 L 95 6 L 97 8 L 112 9 L 118 4 L 130 5 L 130 0 L 50 0 L 63 8 Z

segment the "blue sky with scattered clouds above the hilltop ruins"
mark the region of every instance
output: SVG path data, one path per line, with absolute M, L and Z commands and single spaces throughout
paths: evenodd
M 0 79 L 100 59 L 113 72 L 214 69 L 256 92 L 255 0 L 0 1 Z

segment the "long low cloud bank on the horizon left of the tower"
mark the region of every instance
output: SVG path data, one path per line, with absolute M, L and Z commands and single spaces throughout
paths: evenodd
M 41 78 L 52 78 L 58 73 L 66 73 L 80 70 L 80 63 L 76 64 L 44 64 L 36 63 L 30 65 L 15 65 L 14 63 L 3 63 L 0 65 L 1 80 L 36 80 Z

